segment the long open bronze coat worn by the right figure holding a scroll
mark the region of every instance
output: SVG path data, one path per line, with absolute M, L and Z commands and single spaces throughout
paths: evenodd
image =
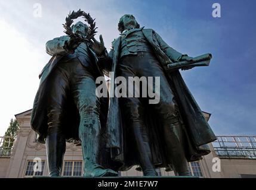
M 159 62 L 165 68 L 165 65 L 177 62 L 182 56 L 181 53 L 169 47 L 164 40 L 152 29 L 143 29 L 143 34 L 152 46 L 153 51 Z M 108 53 L 106 58 L 101 59 L 101 65 L 107 71 L 114 72 L 114 79 L 118 77 L 118 61 L 119 51 L 121 46 L 121 37 L 112 42 L 112 50 Z M 171 74 L 166 73 L 169 83 L 174 87 L 174 94 L 177 98 L 178 107 L 181 113 L 181 120 L 183 122 L 183 131 L 185 136 L 185 151 L 188 162 L 202 159 L 201 156 L 209 154 L 208 143 L 216 140 L 214 132 L 210 128 L 208 122 L 205 120 L 203 113 L 193 98 L 192 94 L 184 83 L 179 71 L 174 71 Z M 113 78 L 111 81 L 114 81 Z M 110 94 L 114 94 L 116 84 L 110 84 Z M 170 160 L 165 156 L 163 150 L 164 143 L 159 134 L 159 121 L 153 117 L 153 113 L 147 110 L 146 125 L 150 129 L 150 139 L 153 152 L 153 162 L 156 167 L 166 167 L 171 169 Z M 138 156 L 136 155 L 136 148 L 134 144 L 134 137 L 132 133 L 125 126 L 125 120 L 122 116 L 119 100 L 117 97 L 110 98 L 109 114 L 107 119 L 107 147 L 111 150 L 112 159 L 122 163 L 119 170 L 127 170 L 131 166 L 138 164 Z

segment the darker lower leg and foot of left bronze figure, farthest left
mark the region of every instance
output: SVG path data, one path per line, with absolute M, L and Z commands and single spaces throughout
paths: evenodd
M 66 151 L 66 139 L 63 134 L 50 132 L 46 139 L 49 176 L 61 175 L 63 157 Z

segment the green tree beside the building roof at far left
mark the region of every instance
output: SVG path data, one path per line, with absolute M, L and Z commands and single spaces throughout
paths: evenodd
M 10 125 L 7 128 L 7 131 L 5 132 L 3 143 L 0 147 L 1 156 L 10 155 L 11 148 L 13 147 L 18 128 L 19 126 L 17 120 L 11 119 Z

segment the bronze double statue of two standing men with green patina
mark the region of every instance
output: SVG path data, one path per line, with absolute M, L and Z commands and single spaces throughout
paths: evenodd
M 89 26 L 69 27 L 70 18 L 81 15 Z M 82 146 L 86 177 L 118 176 L 134 165 L 144 176 L 157 176 L 161 167 L 189 176 L 187 162 L 209 154 L 207 144 L 216 137 L 178 69 L 209 65 L 211 54 L 192 58 L 177 52 L 129 14 L 120 18 L 120 36 L 107 52 L 103 37 L 94 38 L 94 20 L 80 10 L 69 16 L 68 35 L 46 44 L 52 58 L 39 76 L 31 119 L 38 141 L 46 143 L 50 176 L 61 174 L 66 141 Z M 95 81 L 104 75 L 111 81 L 159 77 L 159 86 L 156 80 L 148 85 L 155 93 L 159 89 L 159 101 L 150 104 L 150 96 L 135 96 L 128 85 L 127 96 L 109 96 L 116 83 L 98 97 L 98 85 L 105 84 Z

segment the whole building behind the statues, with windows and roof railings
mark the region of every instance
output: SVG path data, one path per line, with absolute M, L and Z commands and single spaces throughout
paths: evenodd
M 32 110 L 19 113 L 20 125 L 16 139 L 0 138 L 0 178 L 32 178 L 48 176 L 45 145 L 36 142 L 36 134 L 30 128 Z M 211 116 L 204 112 L 208 121 Z M 199 162 L 189 163 L 192 176 L 202 178 L 256 178 L 256 137 L 218 137 L 209 144 L 211 153 Z M 62 176 L 82 176 L 81 147 L 67 143 Z M 120 176 L 143 176 L 136 166 Z M 159 176 L 174 176 L 174 172 L 158 169 Z

